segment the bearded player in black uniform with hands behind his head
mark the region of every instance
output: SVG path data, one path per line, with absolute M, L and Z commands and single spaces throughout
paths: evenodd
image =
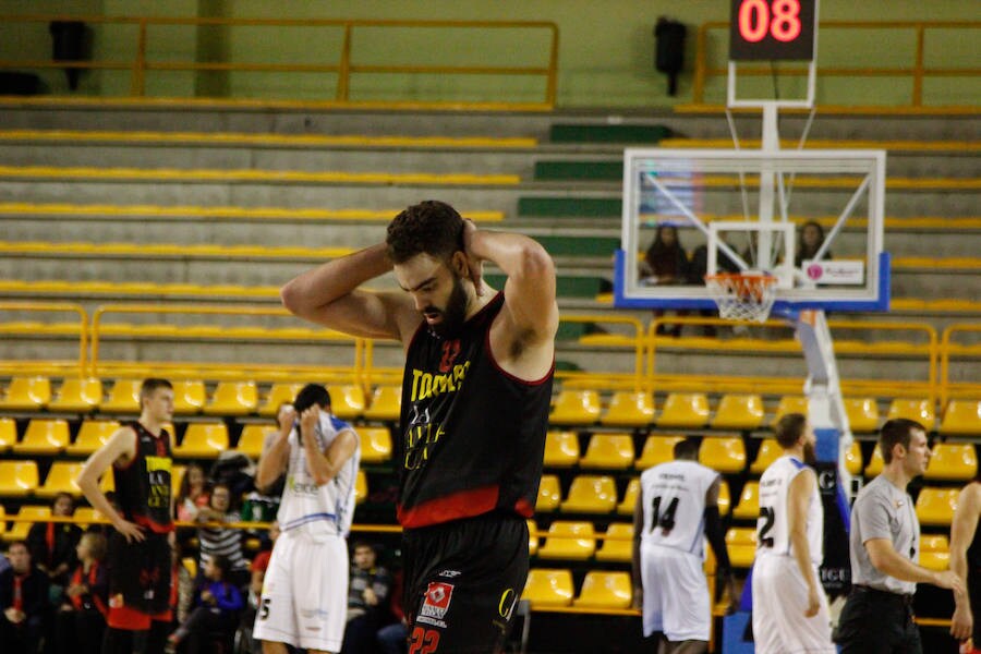
M 483 262 L 506 276 L 487 288 Z M 392 270 L 398 292 L 359 287 Z M 294 314 L 402 342 L 399 521 L 409 652 L 494 652 L 528 577 L 558 329 L 555 267 L 520 234 L 428 201 L 385 243 L 282 289 Z

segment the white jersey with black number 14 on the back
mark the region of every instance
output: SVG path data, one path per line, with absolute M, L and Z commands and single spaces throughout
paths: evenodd
M 704 556 L 705 493 L 718 473 L 694 461 L 671 461 L 641 474 L 643 543 Z

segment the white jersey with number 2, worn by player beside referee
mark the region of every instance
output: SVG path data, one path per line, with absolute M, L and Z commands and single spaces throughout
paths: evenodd
M 756 519 L 756 556 L 790 556 L 790 522 L 787 517 L 787 493 L 790 482 L 807 465 L 790 456 L 783 456 L 760 477 L 760 517 Z M 808 500 L 808 547 L 811 561 L 820 566 L 824 560 L 824 509 L 815 491 Z

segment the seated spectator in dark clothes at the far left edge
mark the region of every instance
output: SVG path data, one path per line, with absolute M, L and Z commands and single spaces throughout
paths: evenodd
M 0 572 L 0 643 L 3 654 L 37 654 L 49 613 L 48 576 L 31 561 L 24 541 L 7 550 L 10 568 Z

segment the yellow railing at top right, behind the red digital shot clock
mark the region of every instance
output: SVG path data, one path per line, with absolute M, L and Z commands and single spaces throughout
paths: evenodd
M 698 44 L 695 48 L 694 81 L 692 89 L 692 101 L 695 105 L 705 102 L 705 84 L 710 77 L 719 77 L 728 74 L 726 62 L 708 61 L 708 40 L 712 32 L 728 32 L 728 22 L 708 22 L 703 23 L 699 27 Z M 977 65 L 970 66 L 933 66 L 925 63 L 925 39 L 928 31 L 940 29 L 965 29 L 976 31 L 976 36 L 967 37 L 968 40 L 981 38 L 981 34 L 977 31 L 981 29 L 981 22 L 978 21 L 822 21 L 820 25 L 822 34 L 826 34 L 831 29 L 895 29 L 895 31 L 913 31 L 916 34 L 916 53 L 913 60 L 906 66 L 840 66 L 840 65 L 820 65 L 818 68 L 818 76 L 820 77 L 911 77 L 912 90 L 910 94 L 909 105 L 911 107 L 923 107 L 923 81 L 929 77 L 977 77 L 981 75 L 981 68 Z M 727 41 L 728 36 L 722 35 L 719 39 Z M 819 43 L 821 37 L 819 36 Z M 819 46 L 819 52 L 821 48 Z M 977 60 L 970 63 L 977 64 Z M 807 66 L 798 65 L 796 68 L 780 68 L 782 75 L 806 76 L 808 74 Z M 746 65 L 740 66 L 740 75 L 772 75 L 773 71 L 768 65 Z

